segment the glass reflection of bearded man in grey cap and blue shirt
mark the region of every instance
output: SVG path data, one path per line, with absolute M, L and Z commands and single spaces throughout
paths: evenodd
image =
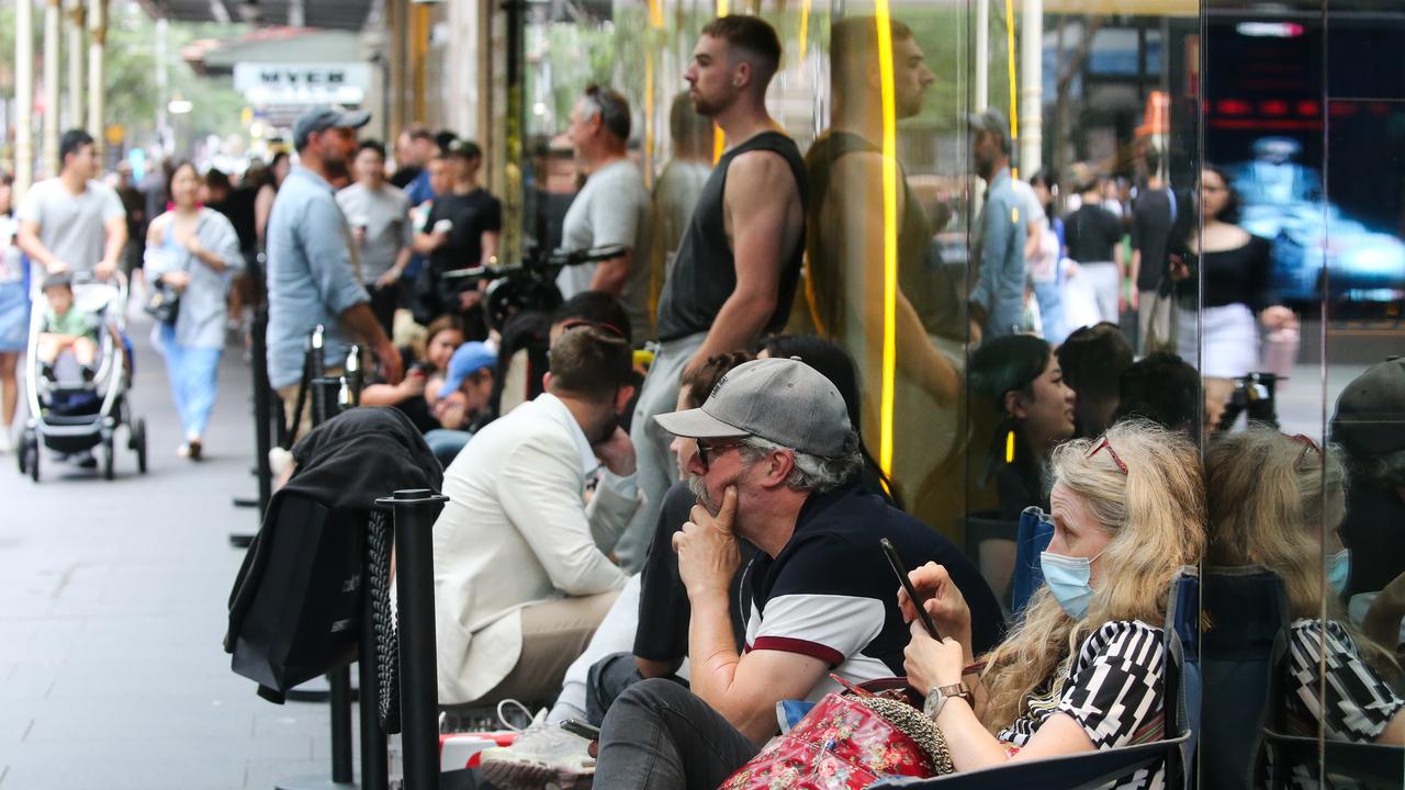
M 971 246 L 971 339 L 979 342 L 1024 329 L 1024 236 L 1030 218 L 1010 180 L 1010 124 L 995 108 L 971 114 L 967 121 L 975 171 L 985 180 L 985 204 Z

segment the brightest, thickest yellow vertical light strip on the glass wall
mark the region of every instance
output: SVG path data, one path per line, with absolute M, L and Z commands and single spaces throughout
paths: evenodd
M 892 403 L 898 367 L 898 114 L 892 86 L 892 20 L 877 0 L 878 76 L 882 93 L 882 388 L 878 406 L 878 465 L 892 474 Z

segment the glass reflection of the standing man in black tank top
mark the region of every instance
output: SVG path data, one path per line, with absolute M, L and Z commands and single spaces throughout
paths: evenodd
M 842 343 L 860 364 L 863 433 L 880 436 L 884 398 L 884 288 L 888 250 L 885 211 L 896 222 L 895 358 L 892 412 L 922 416 L 922 426 L 892 437 L 892 478 L 920 516 L 929 475 L 947 457 L 955 430 L 960 380 L 939 337 L 954 346 L 965 332 L 964 267 L 941 263 L 933 224 L 898 169 L 896 205 L 884 200 L 882 79 L 878 37 L 892 39 L 892 105 L 898 119 L 923 111 L 936 82 L 912 28 L 894 21 L 880 31 L 874 17 L 839 20 L 830 31 L 833 112 L 805 156 L 811 204 L 806 229 L 808 318 L 813 330 Z M 794 326 L 794 325 L 792 325 Z M 950 507 L 950 499 L 944 503 Z M 947 519 L 951 514 L 947 513 Z

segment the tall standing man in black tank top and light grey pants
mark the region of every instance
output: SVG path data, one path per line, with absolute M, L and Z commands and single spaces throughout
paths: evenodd
M 693 51 L 688 98 L 726 135 L 679 243 L 659 301 L 659 350 L 631 423 L 646 502 L 620 540 L 627 571 L 643 561 L 669 485 L 673 440 L 655 415 L 677 406 L 679 378 L 708 357 L 752 346 L 790 318 L 805 235 L 805 163 L 766 111 L 780 67 L 776 31 L 756 17 L 708 22 Z

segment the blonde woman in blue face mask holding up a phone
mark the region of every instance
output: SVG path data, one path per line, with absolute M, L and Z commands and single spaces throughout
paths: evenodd
M 979 663 L 969 610 L 946 569 L 912 572 L 946 637 L 912 630 L 909 683 L 946 735 L 958 772 L 1007 760 L 1124 746 L 1168 734 L 1163 723 L 1166 592 L 1204 548 L 1196 447 L 1148 422 L 1124 422 L 1051 458 L 1054 540 L 1047 585 L 1024 620 Z M 899 595 L 903 613 L 916 617 Z M 940 693 L 939 693 L 940 690 Z M 1144 769 L 1118 789 L 1161 787 Z

